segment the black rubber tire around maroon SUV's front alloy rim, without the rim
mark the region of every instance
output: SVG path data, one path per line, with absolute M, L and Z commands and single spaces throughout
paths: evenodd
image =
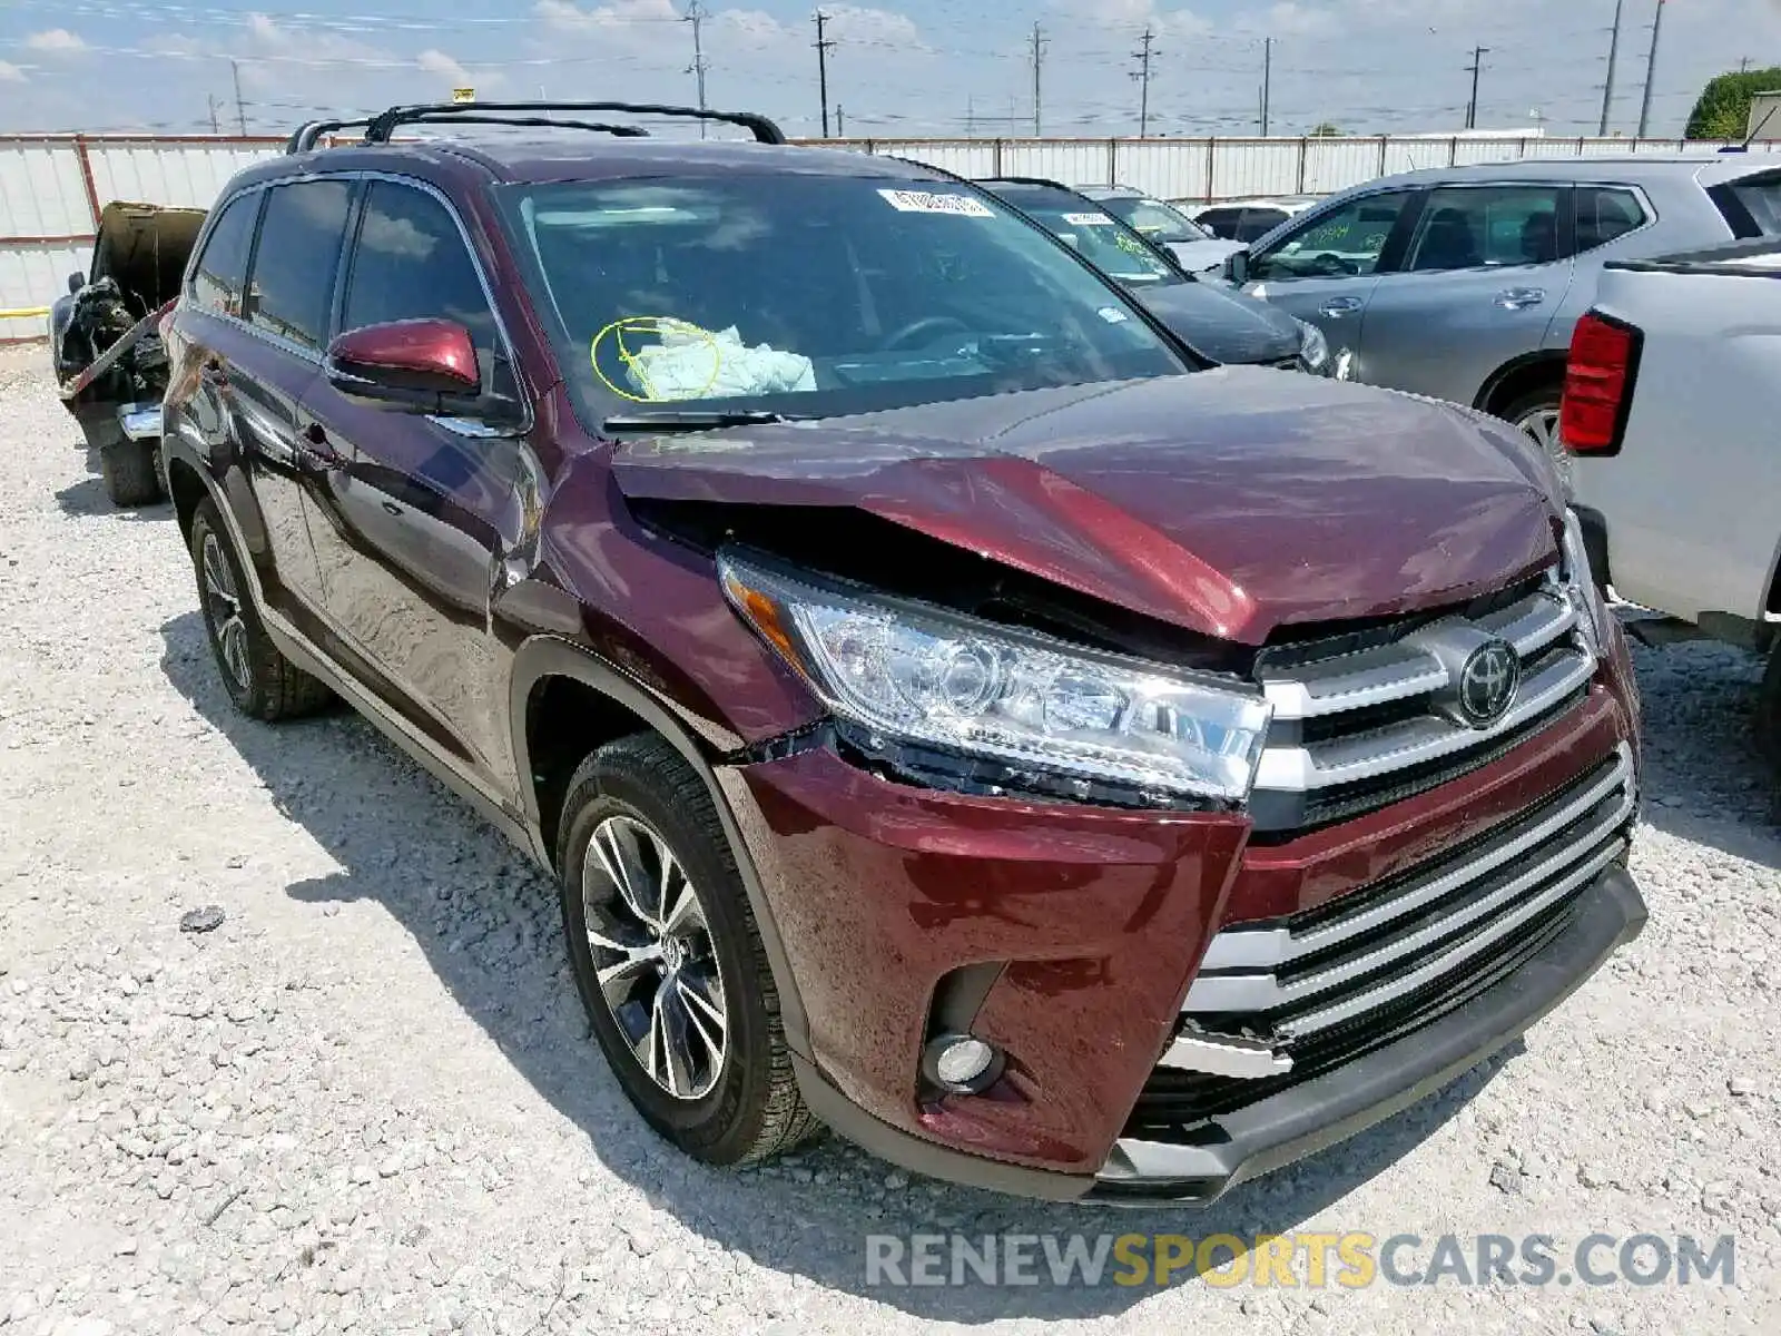
M 652 827 L 698 889 L 723 982 L 728 1053 L 711 1094 L 675 1099 L 643 1071 L 595 982 L 582 907 L 582 860 L 609 816 Z M 805 1108 L 780 1022 L 778 990 L 711 794 L 655 734 L 602 746 L 570 780 L 557 839 L 563 932 L 593 1035 L 625 1096 L 668 1142 L 709 1165 L 771 1160 L 823 1135 Z

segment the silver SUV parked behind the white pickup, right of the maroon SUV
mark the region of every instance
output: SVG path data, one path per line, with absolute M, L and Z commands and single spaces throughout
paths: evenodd
M 1229 274 L 1350 349 L 1355 379 L 1496 413 L 1558 458 L 1601 265 L 1760 235 L 1781 235 L 1781 159 L 1535 159 L 1343 191 Z

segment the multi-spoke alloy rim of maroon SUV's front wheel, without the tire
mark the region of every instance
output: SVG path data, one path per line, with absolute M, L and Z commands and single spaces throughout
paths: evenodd
M 595 982 L 638 1065 L 675 1099 L 723 1072 L 728 1014 L 698 891 L 655 830 L 609 816 L 581 875 Z

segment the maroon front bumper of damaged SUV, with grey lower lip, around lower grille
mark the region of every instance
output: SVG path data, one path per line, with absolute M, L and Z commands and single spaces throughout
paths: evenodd
M 1257 1088 L 1204 1124 L 1211 1140 L 1172 1129 L 1165 1145 L 1136 1110 L 1213 937 L 1471 848 L 1624 754 L 1635 727 L 1624 684 L 1605 673 L 1507 755 L 1286 843 L 1252 837 L 1238 816 L 917 789 L 826 746 L 718 778 L 801 999 L 798 1074 L 821 1119 L 887 1160 L 1003 1192 L 1208 1201 L 1501 1047 L 1644 910 L 1619 864 L 1590 869 L 1537 958 L 1402 1039 L 1378 1035 L 1384 1047 Z M 999 1046 L 1004 1076 L 981 1096 L 924 1090 L 921 1049 L 939 1030 Z

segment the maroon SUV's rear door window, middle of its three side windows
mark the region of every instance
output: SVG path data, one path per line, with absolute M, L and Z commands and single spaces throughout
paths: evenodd
M 251 324 L 301 347 L 322 346 L 351 201 L 353 187 L 337 180 L 271 189 L 248 285 Z

